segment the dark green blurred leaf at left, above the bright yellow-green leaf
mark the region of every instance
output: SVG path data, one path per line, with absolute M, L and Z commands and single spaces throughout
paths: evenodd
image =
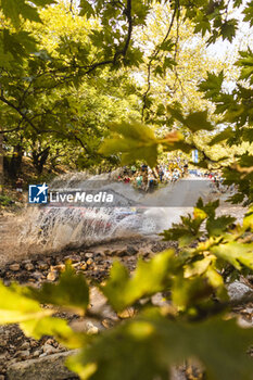
M 85 314 L 89 305 L 89 288 L 85 277 L 76 274 L 71 264 L 66 264 L 58 283 L 43 283 L 41 289 L 28 288 L 26 295 L 42 304 L 51 304 L 75 309 Z

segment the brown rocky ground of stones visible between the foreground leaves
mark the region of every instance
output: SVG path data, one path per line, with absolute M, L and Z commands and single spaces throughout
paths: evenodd
M 4 226 L 2 224 L 2 233 L 8 228 L 8 224 Z M 15 231 L 10 239 L 15 239 Z M 5 284 L 16 281 L 21 284 L 39 287 L 45 281 L 56 281 L 65 261 L 71 259 L 76 270 L 85 274 L 89 281 L 102 281 L 107 276 L 115 258 L 122 261 L 132 270 L 139 256 L 149 259 L 156 252 L 174 245 L 172 242 L 161 241 L 157 237 L 144 239 L 139 237 L 132 238 L 130 241 L 112 241 L 89 249 L 65 250 L 43 255 L 34 254 L 30 257 L 21 256 L 18 261 L 2 262 L 0 278 Z M 229 289 L 229 293 L 232 300 L 237 300 L 244 294 L 252 293 L 252 284 L 250 282 L 236 282 Z M 104 306 L 103 297 L 94 291 L 94 288 L 91 291 L 91 304 L 94 311 L 101 305 Z M 104 319 L 100 322 L 85 320 L 76 315 L 61 316 L 67 318 L 74 329 L 94 333 L 100 329 L 109 328 L 112 320 L 117 318 L 106 307 L 103 313 Z M 241 324 L 253 324 L 253 303 L 238 307 L 235 313 L 240 315 Z M 66 349 L 51 337 L 43 337 L 40 341 L 36 341 L 26 338 L 16 325 L 0 327 L 0 380 L 76 379 L 63 366 L 63 359 L 66 355 L 68 355 Z M 58 369 L 55 370 L 55 368 Z M 187 373 L 186 370 L 182 370 L 176 371 L 173 379 L 198 379 L 194 376 L 192 372 Z

